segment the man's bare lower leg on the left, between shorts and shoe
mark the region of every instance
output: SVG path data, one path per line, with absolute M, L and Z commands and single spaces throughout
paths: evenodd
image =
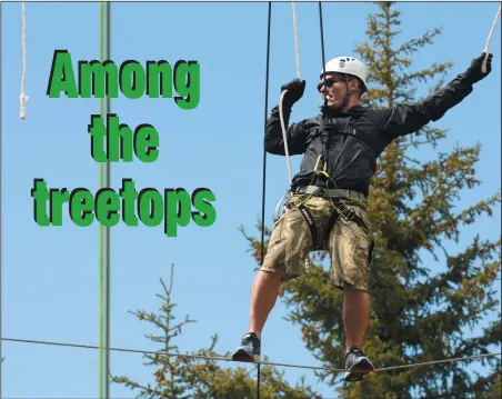
M 279 296 L 280 272 L 259 271 L 251 290 L 251 308 L 249 313 L 249 332 L 261 337 L 263 326 Z

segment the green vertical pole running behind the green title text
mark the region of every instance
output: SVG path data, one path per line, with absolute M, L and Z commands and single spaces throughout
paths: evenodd
M 100 3 L 100 61 L 110 59 L 110 3 Z M 110 98 L 100 99 L 100 114 L 110 113 Z M 100 163 L 100 188 L 110 187 L 110 162 Z M 99 396 L 110 398 L 110 228 L 99 226 Z

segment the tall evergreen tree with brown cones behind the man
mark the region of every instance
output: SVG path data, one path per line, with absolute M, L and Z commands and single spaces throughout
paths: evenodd
M 357 47 L 370 66 L 370 91 L 364 102 L 374 108 L 416 100 L 419 83 L 430 84 L 431 90 L 440 88 L 444 72 L 452 67 L 449 62 L 433 62 L 425 70 L 412 71 L 412 54 L 433 43 L 441 30 L 426 31 L 419 39 L 396 46 L 400 24 L 400 12 L 393 3 L 378 3 L 378 12 L 368 20 L 369 41 Z M 465 198 L 480 184 L 474 167 L 481 147 L 454 148 L 449 153 L 438 153 L 433 161 L 412 157 L 412 150 L 435 148 L 444 137 L 444 130 L 425 127 L 395 140 L 380 158 L 372 180 L 369 211 L 375 249 L 371 321 L 363 350 L 376 368 L 500 351 L 501 322 L 482 329 L 480 323 L 499 308 L 494 286 L 501 265 L 501 241 L 478 236 L 458 253 L 445 248 L 449 242 L 459 242 L 465 226 L 475 223 L 481 216 L 491 216 L 500 193 L 455 212 L 455 200 Z M 270 229 L 264 230 L 269 238 Z M 259 260 L 260 242 L 245 232 L 244 236 Z M 432 255 L 442 271 L 433 273 L 433 265 L 421 262 L 423 251 Z M 309 273 L 282 289 L 291 309 L 289 320 L 301 326 L 307 348 L 322 366 L 343 368 L 342 295 L 328 282 L 324 258 L 325 253 L 318 253 Z M 468 333 L 474 327 L 481 332 Z M 474 362 L 374 372 L 361 382 L 341 387 L 341 373 L 322 372 L 319 377 L 343 398 L 351 399 L 499 398 L 500 358 L 482 360 L 491 370 L 488 377 L 468 372 Z

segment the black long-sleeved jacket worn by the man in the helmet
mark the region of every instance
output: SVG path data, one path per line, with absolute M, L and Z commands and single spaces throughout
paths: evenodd
M 430 121 L 439 120 L 471 92 L 472 83 L 462 73 L 421 102 L 378 110 L 355 106 L 337 116 L 321 111 L 313 118 L 292 123 L 287 130 L 289 154 L 304 154 L 293 187 L 312 181 L 324 136 L 329 137 L 327 171 L 334 181 L 334 184 L 330 181 L 330 187 L 368 196 L 376 160 L 385 147 L 398 137 L 416 132 Z M 285 126 L 290 114 L 291 109 L 284 108 Z M 279 106 L 267 120 L 264 148 L 269 153 L 285 156 Z

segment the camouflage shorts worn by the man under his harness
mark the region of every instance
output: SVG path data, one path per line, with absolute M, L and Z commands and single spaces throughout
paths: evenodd
M 290 203 L 303 203 L 312 215 L 318 230 L 319 242 L 331 258 L 330 277 L 335 287 L 345 287 L 368 291 L 368 273 L 372 258 L 373 241 L 370 232 L 354 221 L 340 217 L 331 231 L 329 222 L 340 202 L 330 199 L 295 194 Z M 368 211 L 363 202 L 343 200 L 347 208 L 364 220 L 368 226 Z M 312 249 L 312 233 L 304 217 L 294 206 L 284 212 L 273 226 L 267 256 L 260 270 L 283 272 L 283 280 L 299 277 L 303 272 L 307 258 Z

